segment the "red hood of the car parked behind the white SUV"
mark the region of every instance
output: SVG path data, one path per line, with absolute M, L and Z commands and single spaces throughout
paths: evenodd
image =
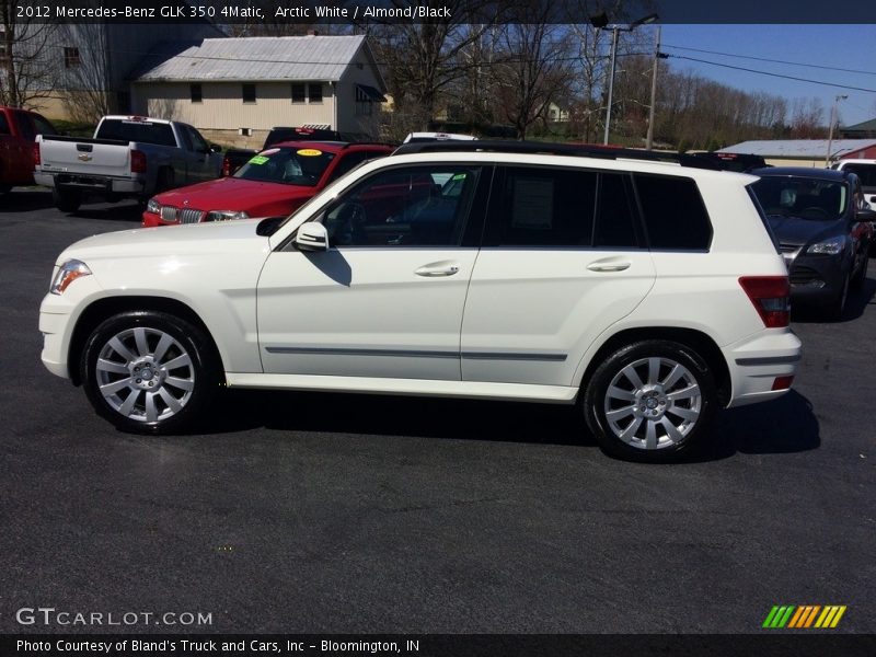
M 307 200 L 319 191 L 318 187 L 223 177 L 164 192 L 155 196 L 155 200 L 161 205 L 195 210 L 243 210 L 255 217 L 262 207 L 275 203 Z

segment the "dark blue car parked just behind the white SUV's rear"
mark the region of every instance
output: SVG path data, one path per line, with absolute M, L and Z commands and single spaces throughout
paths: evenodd
M 752 172 L 751 188 L 779 241 L 796 302 L 817 304 L 839 319 L 849 289 L 867 276 L 873 240 L 869 209 L 858 177 L 849 171 L 776 166 Z

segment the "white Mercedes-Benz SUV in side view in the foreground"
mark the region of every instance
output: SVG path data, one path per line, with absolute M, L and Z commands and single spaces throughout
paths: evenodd
M 578 402 L 604 451 L 676 458 L 787 392 L 800 342 L 757 178 L 646 158 L 411 145 L 285 220 L 89 238 L 43 362 L 129 431 L 221 385 Z

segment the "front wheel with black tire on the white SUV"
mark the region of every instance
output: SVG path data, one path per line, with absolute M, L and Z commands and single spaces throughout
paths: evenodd
M 219 361 L 204 332 L 163 312 L 107 319 L 89 336 L 79 367 L 94 410 L 135 434 L 191 427 L 220 385 Z

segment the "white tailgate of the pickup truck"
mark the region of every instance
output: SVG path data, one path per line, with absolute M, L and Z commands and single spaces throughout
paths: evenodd
M 115 177 L 130 174 L 130 145 L 127 141 L 43 136 L 39 159 L 46 173 L 57 171 Z

